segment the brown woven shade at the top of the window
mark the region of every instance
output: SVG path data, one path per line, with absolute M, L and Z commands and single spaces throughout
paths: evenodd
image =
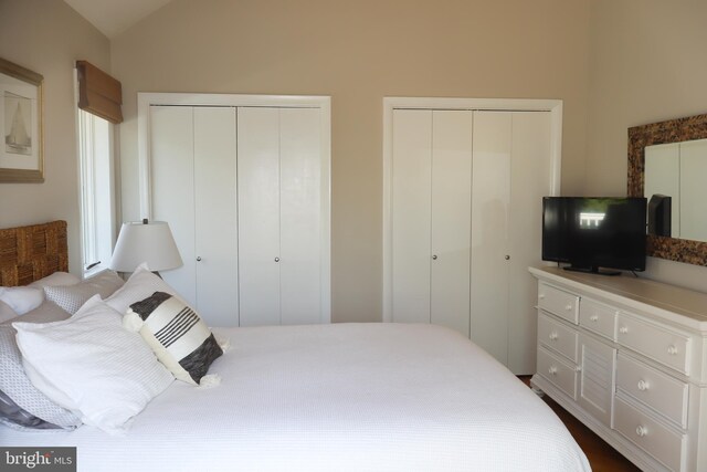
M 76 61 L 78 107 L 110 123 L 123 122 L 120 82 L 87 61 Z

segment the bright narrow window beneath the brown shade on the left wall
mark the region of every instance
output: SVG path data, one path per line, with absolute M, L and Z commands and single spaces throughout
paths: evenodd
M 113 124 L 78 109 L 83 274 L 108 268 L 115 241 Z

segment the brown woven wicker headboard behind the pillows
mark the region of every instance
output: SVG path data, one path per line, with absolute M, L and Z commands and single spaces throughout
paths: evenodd
M 66 221 L 0 230 L 0 285 L 27 285 L 68 271 Z

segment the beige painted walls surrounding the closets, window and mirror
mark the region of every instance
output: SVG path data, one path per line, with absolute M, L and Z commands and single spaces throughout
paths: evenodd
M 124 84 L 126 220 L 137 91 L 331 95 L 333 317 L 380 319 L 383 96 L 561 98 L 563 193 L 625 195 L 626 128 L 706 112 L 705 18 L 703 0 L 175 0 L 109 43 L 61 0 L 0 0 L 0 56 L 44 75 L 46 159 L 44 183 L 0 185 L 0 227 L 67 220 L 80 270 L 76 59 Z M 707 292 L 704 268 L 647 275 Z

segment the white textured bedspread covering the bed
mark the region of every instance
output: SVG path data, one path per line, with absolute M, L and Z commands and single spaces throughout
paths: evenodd
M 562 422 L 468 339 L 431 325 L 217 328 L 221 385 L 176 381 L 122 437 L 88 426 L 80 471 L 589 471 Z

